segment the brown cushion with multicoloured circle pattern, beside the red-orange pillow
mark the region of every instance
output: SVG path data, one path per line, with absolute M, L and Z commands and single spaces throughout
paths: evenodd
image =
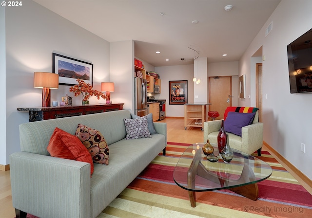
M 78 124 L 75 135 L 86 146 L 94 163 L 108 165 L 109 148 L 103 135 L 97 129 Z

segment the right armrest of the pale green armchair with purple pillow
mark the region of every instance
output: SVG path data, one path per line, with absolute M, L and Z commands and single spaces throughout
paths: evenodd
M 242 148 L 249 154 L 263 145 L 263 123 L 254 123 L 242 127 Z

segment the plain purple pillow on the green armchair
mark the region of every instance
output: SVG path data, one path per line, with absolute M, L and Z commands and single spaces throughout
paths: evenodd
M 251 125 L 254 121 L 255 113 L 228 112 L 224 121 L 224 130 L 235 135 L 242 136 L 242 127 Z

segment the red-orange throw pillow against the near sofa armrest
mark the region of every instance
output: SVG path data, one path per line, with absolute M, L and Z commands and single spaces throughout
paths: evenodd
M 91 175 L 94 165 L 88 149 L 74 135 L 56 127 L 47 147 L 51 157 L 76 160 L 91 164 Z

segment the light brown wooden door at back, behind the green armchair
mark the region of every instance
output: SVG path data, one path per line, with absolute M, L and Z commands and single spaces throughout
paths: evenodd
M 223 119 L 227 107 L 232 106 L 232 77 L 216 76 L 209 77 L 209 111 L 218 111 L 220 116 L 217 120 Z

